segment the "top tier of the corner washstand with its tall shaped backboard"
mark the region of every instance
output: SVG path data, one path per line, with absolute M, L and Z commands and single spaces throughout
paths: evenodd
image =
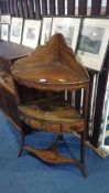
M 86 68 L 79 64 L 62 34 L 53 35 L 45 45 L 11 67 L 12 76 L 28 87 L 64 90 L 89 83 Z

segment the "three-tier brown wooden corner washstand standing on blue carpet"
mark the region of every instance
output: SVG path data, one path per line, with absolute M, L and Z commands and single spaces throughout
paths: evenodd
M 86 176 L 85 131 L 89 77 L 86 69 L 75 60 L 64 36 L 55 34 L 46 45 L 39 46 L 31 56 L 17 61 L 11 68 L 11 74 L 14 79 L 21 122 L 26 124 L 32 129 L 54 132 L 58 136 L 65 132 L 80 135 L 80 160 L 69 159 L 57 152 L 55 144 L 58 140 L 46 150 L 25 146 L 24 128 L 21 124 L 22 144 L 19 156 L 21 156 L 22 150 L 28 150 L 46 162 L 76 163 L 83 175 Z M 26 97 L 31 90 L 42 92 L 42 97 L 36 100 L 32 98 L 25 100 L 21 94 L 21 89 L 24 88 L 28 88 Z M 75 105 L 69 105 L 64 95 L 66 92 L 78 89 L 85 90 L 83 112 L 75 109 Z

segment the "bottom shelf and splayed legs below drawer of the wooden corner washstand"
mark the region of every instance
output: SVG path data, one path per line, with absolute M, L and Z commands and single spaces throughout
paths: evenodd
M 58 152 L 58 141 L 61 139 L 61 136 L 57 136 L 56 140 L 53 141 L 52 146 L 47 147 L 46 149 L 35 149 L 29 144 L 24 144 L 24 136 L 22 136 L 22 146 L 19 151 L 19 157 L 21 156 L 22 151 L 25 150 L 47 163 L 72 163 L 76 165 L 86 178 L 87 172 L 85 165 L 85 146 L 83 144 L 83 142 L 80 143 L 80 157 L 79 159 L 76 159 L 74 157 L 74 153 L 70 152 L 69 147 L 66 144 L 68 152 L 70 152 L 70 158 L 66 158 Z

